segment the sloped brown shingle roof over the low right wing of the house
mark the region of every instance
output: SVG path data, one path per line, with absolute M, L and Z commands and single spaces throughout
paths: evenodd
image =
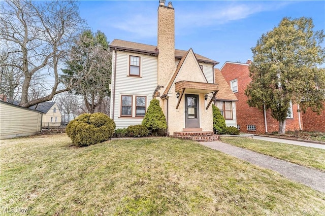
M 226 100 L 226 101 L 238 101 L 236 95 L 231 90 L 227 81 L 223 78 L 220 70 L 218 68 L 214 68 L 214 77 L 215 83 L 219 84 L 219 91 L 216 95 L 217 100 Z

